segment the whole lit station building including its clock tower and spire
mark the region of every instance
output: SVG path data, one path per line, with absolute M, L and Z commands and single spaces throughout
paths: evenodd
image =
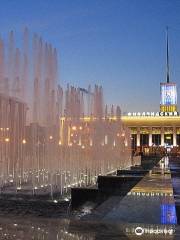
M 131 129 L 132 149 L 135 151 L 177 151 L 180 148 L 180 114 L 177 110 L 176 83 L 169 77 L 169 45 L 167 31 L 167 79 L 160 84 L 160 111 L 133 112 L 122 117 Z

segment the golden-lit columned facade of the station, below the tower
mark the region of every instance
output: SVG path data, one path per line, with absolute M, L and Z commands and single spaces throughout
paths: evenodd
M 131 130 L 134 151 L 158 151 L 165 148 L 177 151 L 180 147 L 180 116 L 156 113 L 151 115 L 132 114 L 123 116 L 122 121 Z

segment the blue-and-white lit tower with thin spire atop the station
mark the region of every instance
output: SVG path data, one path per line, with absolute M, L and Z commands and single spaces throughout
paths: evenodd
M 160 112 L 177 111 L 177 88 L 176 83 L 170 82 L 169 77 L 169 36 L 166 28 L 166 82 L 160 83 Z

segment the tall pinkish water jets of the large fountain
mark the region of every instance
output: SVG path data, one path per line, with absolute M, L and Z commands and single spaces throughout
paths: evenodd
M 131 165 L 130 132 L 103 89 L 58 84 L 57 51 L 28 29 L 0 39 L 1 194 L 49 196 Z

